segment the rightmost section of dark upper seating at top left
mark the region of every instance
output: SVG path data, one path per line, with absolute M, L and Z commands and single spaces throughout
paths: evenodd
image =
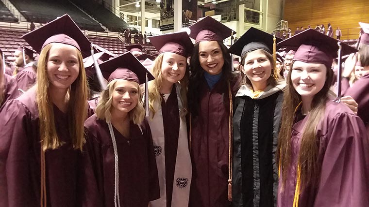
M 72 0 L 72 2 L 97 19 L 110 31 L 123 32 L 129 28 L 126 22 L 94 0 Z

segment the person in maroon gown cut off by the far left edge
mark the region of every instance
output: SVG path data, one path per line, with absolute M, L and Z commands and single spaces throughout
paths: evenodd
M 18 97 L 17 81 L 12 76 L 5 74 L 4 60 L 0 49 L 0 107 L 8 100 Z

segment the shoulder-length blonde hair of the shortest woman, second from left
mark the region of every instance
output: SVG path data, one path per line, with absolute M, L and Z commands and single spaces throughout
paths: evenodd
M 100 94 L 100 98 L 99 98 L 99 103 L 96 106 L 96 116 L 97 118 L 101 119 L 101 120 L 105 120 L 107 122 L 110 122 L 112 115 L 110 113 L 110 109 L 112 107 L 112 102 L 113 102 L 113 92 L 114 92 L 114 88 L 115 88 L 115 84 L 117 83 L 117 79 L 116 80 L 112 80 L 109 84 L 108 84 L 108 89 L 105 89 L 101 92 Z M 138 94 L 141 94 L 141 88 L 140 86 L 137 84 L 137 90 L 138 90 Z M 143 119 L 145 118 L 145 109 L 142 106 L 141 102 L 139 101 L 141 99 L 141 97 L 138 98 L 138 102 L 136 104 L 136 106 L 134 107 L 134 109 L 132 109 L 132 111 L 129 112 L 129 116 L 131 118 L 131 120 L 133 120 L 134 124 L 138 124 L 140 125 L 143 121 Z

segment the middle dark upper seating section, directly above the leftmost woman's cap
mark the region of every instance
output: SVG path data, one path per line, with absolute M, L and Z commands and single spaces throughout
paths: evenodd
M 11 0 L 27 21 L 45 24 L 58 16 L 69 14 L 82 30 L 105 31 L 99 23 L 65 0 Z

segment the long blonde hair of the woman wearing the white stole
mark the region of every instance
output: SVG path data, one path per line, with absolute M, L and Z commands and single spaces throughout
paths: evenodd
M 160 95 L 159 89 L 161 88 L 161 85 L 163 83 L 163 76 L 161 73 L 161 66 L 163 63 L 163 56 L 164 53 L 161 53 L 153 63 L 153 68 L 151 71 L 151 74 L 155 77 L 154 80 L 149 82 L 149 109 L 151 112 L 151 118 L 155 115 L 155 103 L 161 103 L 162 102 L 162 96 Z M 188 78 L 189 78 L 189 67 L 186 63 L 186 72 L 185 76 L 180 81 L 181 83 L 181 97 L 183 101 L 183 113 L 182 115 L 185 115 L 187 111 L 187 86 L 188 86 Z M 175 86 L 174 86 L 175 87 Z

